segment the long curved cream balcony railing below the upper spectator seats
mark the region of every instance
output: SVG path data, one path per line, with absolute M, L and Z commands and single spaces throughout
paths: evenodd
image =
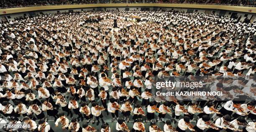
M 1 7 L 4 8 L 22 8 L 22 7 L 34 7 L 34 6 L 49 6 L 49 5 L 87 5 L 87 4 L 110 4 L 110 3 L 80 3 L 80 4 L 45 4 L 45 5 L 26 5 L 26 6 L 14 6 L 14 7 Z M 120 3 L 111 3 L 120 4 Z M 130 3 L 131 4 L 131 3 Z M 157 4 L 157 3 L 156 3 Z M 231 5 L 231 6 L 243 6 L 243 7 L 256 7 L 256 5 L 232 5 L 232 4 L 212 4 L 212 3 L 161 3 L 161 4 L 193 4 L 193 5 Z

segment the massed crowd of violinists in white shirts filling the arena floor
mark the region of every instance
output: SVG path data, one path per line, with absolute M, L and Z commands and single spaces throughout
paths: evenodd
M 129 21 L 133 15 L 140 22 Z M 117 120 L 111 131 L 118 132 L 255 132 L 256 78 L 245 81 L 255 73 L 255 26 L 177 11 L 86 11 L 2 22 L 0 124 L 10 125 L 1 127 L 110 132 L 103 116 L 111 114 Z M 218 76 L 208 87 L 230 100 L 155 96 L 156 77 L 195 75 Z M 238 80 L 220 81 L 227 76 Z M 237 94 L 251 100 L 232 99 Z M 91 126 L 96 120 L 101 129 Z

